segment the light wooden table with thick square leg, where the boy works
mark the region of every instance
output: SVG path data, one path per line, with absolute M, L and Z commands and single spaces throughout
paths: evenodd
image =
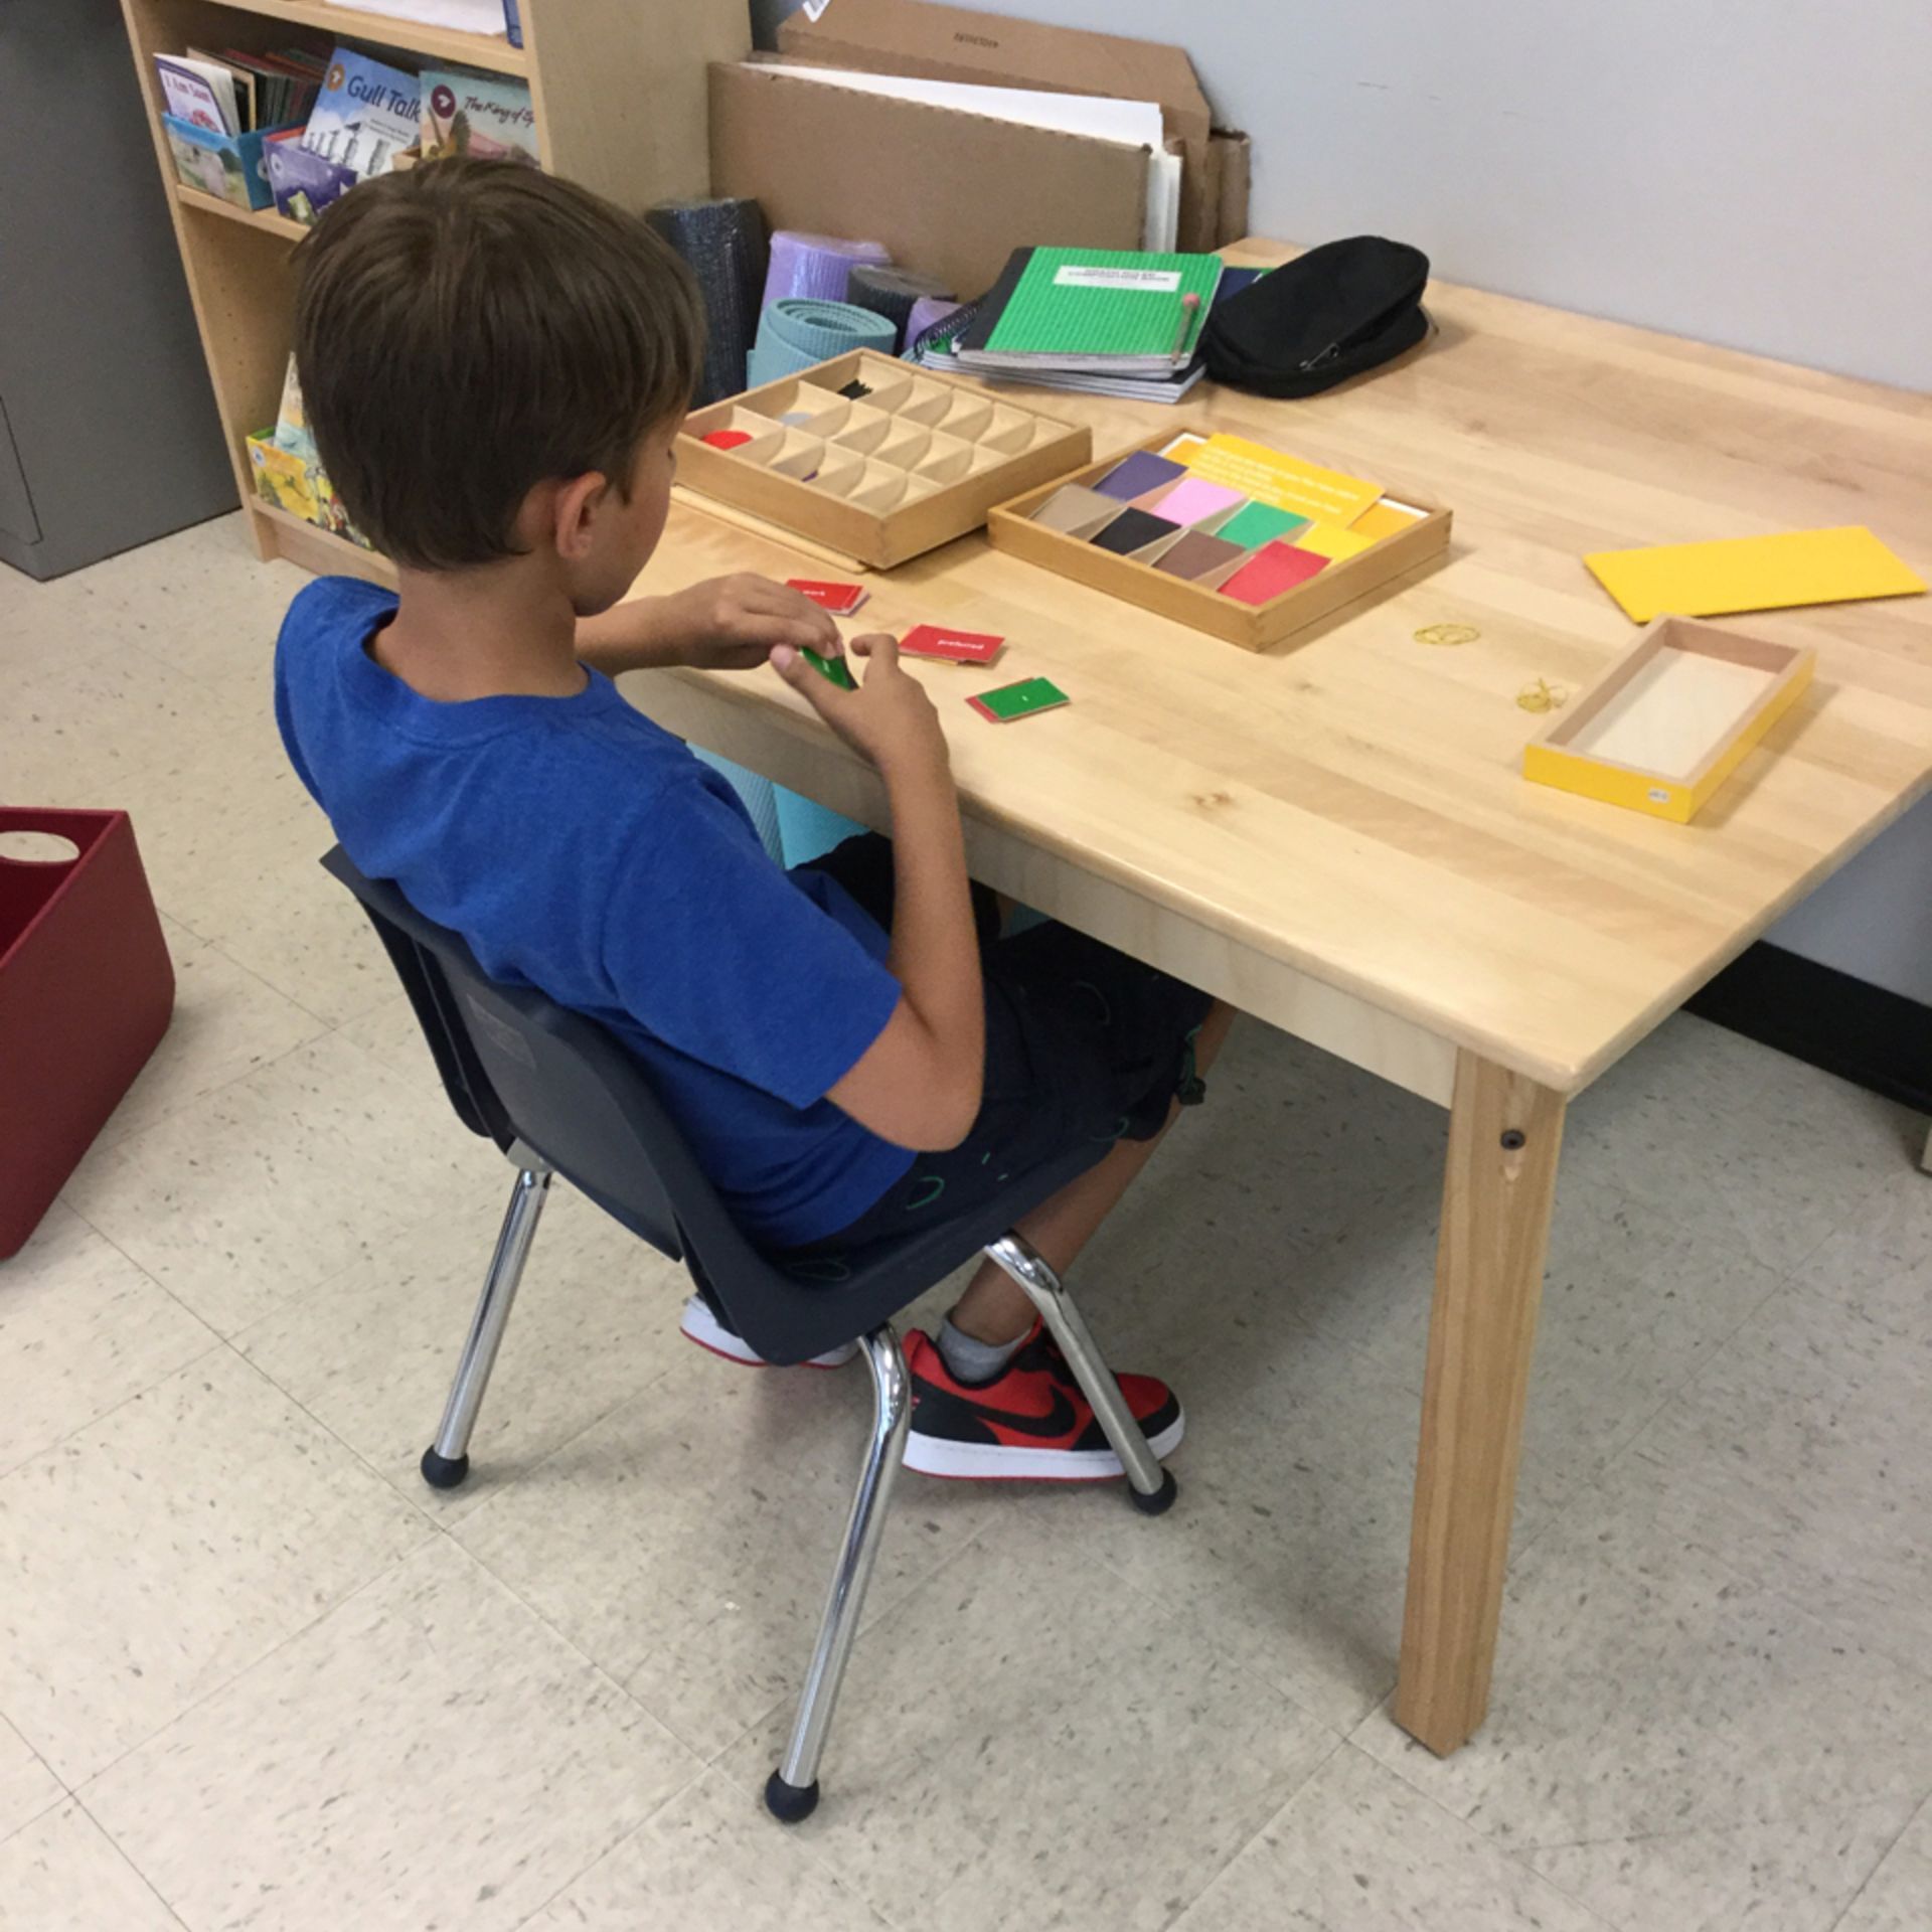
M 1236 261 L 1291 249 L 1242 243 Z M 1030 392 L 1095 454 L 1171 413 L 1410 485 L 1449 560 L 1314 641 L 1250 655 L 993 553 L 873 578 L 860 628 L 1001 632 L 1074 699 L 993 728 L 941 699 L 976 877 L 1451 1109 L 1395 1714 L 1482 1721 L 1557 1146 L 1571 1095 L 1932 784 L 1932 597 L 1727 620 L 1818 645 L 1812 690 L 1689 827 L 1519 775 L 1634 638 L 1584 551 L 1868 524 L 1920 572 L 1932 400 L 1435 284 L 1432 348 L 1300 404 L 1157 412 Z M 823 558 L 680 506 L 639 591 Z M 1476 641 L 1428 647 L 1428 624 Z M 639 674 L 694 742 L 871 825 L 883 794 L 773 672 Z

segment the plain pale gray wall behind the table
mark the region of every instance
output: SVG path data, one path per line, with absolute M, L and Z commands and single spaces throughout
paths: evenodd
M 753 0 L 767 44 L 788 10 Z M 1254 135 L 1258 234 L 1401 236 L 1457 282 L 1932 386 L 1932 0 L 985 12 L 1180 41 Z M 1774 937 L 1932 1001 L 1932 806 Z

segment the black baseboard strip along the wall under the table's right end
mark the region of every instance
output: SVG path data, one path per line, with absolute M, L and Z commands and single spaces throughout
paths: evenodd
M 1704 1020 L 1932 1113 L 1932 1007 L 1758 943 L 1689 1001 Z

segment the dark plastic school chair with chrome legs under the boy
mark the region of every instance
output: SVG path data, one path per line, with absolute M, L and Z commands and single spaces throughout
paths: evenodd
M 1016 1177 L 976 1213 L 862 1250 L 837 1285 L 800 1279 L 738 1233 L 643 1068 L 611 1034 L 543 993 L 489 980 L 456 933 L 425 920 L 388 881 L 365 879 L 340 846 L 323 867 L 361 900 L 388 949 L 456 1117 L 471 1134 L 495 1140 L 516 1169 L 442 1426 L 423 1451 L 427 1482 L 450 1490 L 469 1474 L 469 1434 L 553 1175 L 684 1262 L 699 1293 L 769 1362 L 804 1362 L 862 1341 L 875 1395 L 866 1464 L 792 1737 L 765 1785 L 773 1816 L 796 1824 L 819 1801 L 819 1760 L 912 1416 L 906 1358 L 893 1327 L 900 1308 L 983 1250 L 1045 1320 L 1126 1470 L 1134 1505 L 1159 1515 L 1175 1499 L 1175 1478 L 1148 1447 L 1059 1275 L 1012 1231 L 1020 1215 L 1090 1167 L 1092 1151 Z

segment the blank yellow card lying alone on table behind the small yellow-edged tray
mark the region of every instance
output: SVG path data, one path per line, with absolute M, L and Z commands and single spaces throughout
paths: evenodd
M 1584 562 L 1638 624 L 1665 611 L 1723 616 L 1853 597 L 1909 597 L 1924 589 L 1920 578 L 1857 524 L 1719 543 L 1665 543 L 1650 551 L 1596 551 Z

